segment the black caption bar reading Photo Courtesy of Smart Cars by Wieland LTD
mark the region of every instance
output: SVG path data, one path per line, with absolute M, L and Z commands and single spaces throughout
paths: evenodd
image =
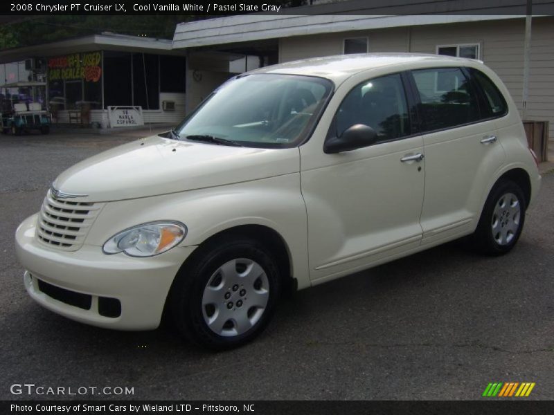
M 517 400 L 516 400 L 517 399 Z M 1 401 L 3 415 L 31 414 L 182 414 L 182 415 L 377 415 L 377 414 L 502 414 L 544 415 L 554 413 L 553 401 L 483 398 L 473 401 L 100 401 L 19 400 Z

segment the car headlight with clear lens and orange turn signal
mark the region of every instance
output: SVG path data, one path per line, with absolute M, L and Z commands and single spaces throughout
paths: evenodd
M 180 222 L 159 221 L 143 223 L 122 230 L 108 239 L 105 254 L 124 252 L 131 257 L 153 257 L 177 246 L 186 236 L 186 226 Z

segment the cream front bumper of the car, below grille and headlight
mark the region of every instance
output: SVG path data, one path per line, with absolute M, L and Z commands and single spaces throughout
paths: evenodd
M 71 320 L 107 329 L 150 330 L 159 326 L 173 279 L 195 249 L 177 246 L 148 258 L 123 253 L 105 255 L 100 246 L 91 245 L 66 252 L 37 241 L 36 223 L 35 214 L 21 223 L 15 234 L 16 253 L 26 269 L 24 283 L 29 295 L 45 308 Z M 90 308 L 47 295 L 39 289 L 38 280 L 91 296 Z M 118 299 L 121 306 L 118 317 L 100 315 L 98 301 L 102 297 Z

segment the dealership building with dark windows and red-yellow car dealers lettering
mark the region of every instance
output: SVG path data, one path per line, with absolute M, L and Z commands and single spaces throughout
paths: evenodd
M 185 58 L 167 39 L 102 33 L 0 51 L 0 112 L 40 102 L 53 123 L 107 124 L 111 106 L 145 122 L 185 116 Z

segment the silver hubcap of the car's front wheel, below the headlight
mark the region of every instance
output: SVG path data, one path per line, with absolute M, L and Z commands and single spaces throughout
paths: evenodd
M 232 259 L 217 268 L 204 288 L 204 322 L 218 335 L 241 335 L 260 320 L 268 299 L 269 280 L 260 264 Z

